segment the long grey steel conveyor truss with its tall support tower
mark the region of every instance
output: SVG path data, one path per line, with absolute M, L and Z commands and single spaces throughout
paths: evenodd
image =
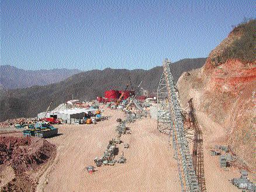
M 172 132 L 172 146 L 178 162 L 179 180 L 182 191 L 200 191 L 198 179 L 189 153 L 188 141 L 184 132 L 181 107 L 179 106 L 174 79 L 169 70 L 171 62 L 163 61 L 164 71 L 157 90 L 158 130 Z

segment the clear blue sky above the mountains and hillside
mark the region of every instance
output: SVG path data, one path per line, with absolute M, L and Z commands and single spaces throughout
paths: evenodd
M 1 65 L 150 69 L 207 57 L 256 1 L 1 0 Z

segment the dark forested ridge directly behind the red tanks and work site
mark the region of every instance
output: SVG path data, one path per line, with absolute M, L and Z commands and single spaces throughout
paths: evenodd
M 200 68 L 206 58 L 184 59 L 171 64 L 174 81 L 185 71 Z M 64 81 L 44 86 L 32 86 L 25 89 L 6 90 L 0 97 L 0 121 L 8 118 L 36 117 L 37 113 L 46 111 L 51 100 L 51 109 L 67 100 L 92 100 L 96 96 L 103 96 L 105 90 L 124 89 L 129 83 L 129 76 L 133 87 L 141 83 L 141 88 L 157 90 L 162 74 L 162 67 L 150 70 L 144 69 L 111 69 L 92 70 L 70 76 Z

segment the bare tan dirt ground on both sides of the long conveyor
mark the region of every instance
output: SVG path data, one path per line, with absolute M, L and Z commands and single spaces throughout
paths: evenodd
M 124 117 L 118 110 L 106 110 L 105 115 L 112 118 L 96 125 L 58 125 L 61 135 L 47 139 L 57 145 L 57 157 L 39 180 L 37 191 L 181 191 L 168 136 L 157 132 L 157 122 L 150 118 L 127 124 L 132 134 L 122 135 L 116 156 L 124 152 L 126 164 L 97 167 L 94 174 L 88 174 L 85 167 L 94 165 L 94 158 L 102 155 L 116 135 L 116 118 Z M 129 149 L 123 148 L 126 143 Z M 239 191 L 229 182 L 240 176 L 238 170 L 221 169 L 219 158 L 210 156 L 207 146 L 207 191 Z

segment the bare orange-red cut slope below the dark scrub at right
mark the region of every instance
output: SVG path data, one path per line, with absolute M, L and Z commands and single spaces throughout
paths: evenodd
M 206 132 L 215 132 L 212 145 L 230 145 L 251 170 L 256 168 L 255 88 L 255 65 L 239 60 L 229 60 L 207 76 L 202 69 L 186 72 L 178 81 L 182 107 L 188 108 L 187 102 L 193 98 L 196 111 L 218 125 L 216 132 L 212 123 L 204 123 Z

